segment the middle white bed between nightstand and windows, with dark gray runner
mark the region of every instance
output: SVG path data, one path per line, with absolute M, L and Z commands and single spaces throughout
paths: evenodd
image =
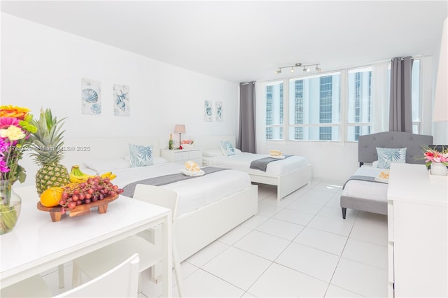
M 202 162 L 209 166 L 225 166 L 239 171 L 245 171 L 253 183 L 275 185 L 277 200 L 283 199 L 291 192 L 311 183 L 311 164 L 305 157 L 291 156 L 267 164 L 266 171 L 250 169 L 255 159 L 269 155 L 259 155 L 237 151 L 232 156 L 224 156 L 220 141 L 228 141 L 235 148 L 235 136 L 201 136 L 195 139 L 195 146 L 202 148 Z M 221 152 L 221 153 L 220 153 Z

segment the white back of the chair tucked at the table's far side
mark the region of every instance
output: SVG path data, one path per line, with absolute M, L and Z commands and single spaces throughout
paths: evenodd
M 154 185 L 137 184 L 133 198 L 169 208 L 172 211 L 173 222 L 177 218 L 179 194 L 174 190 L 168 190 L 167 188 Z

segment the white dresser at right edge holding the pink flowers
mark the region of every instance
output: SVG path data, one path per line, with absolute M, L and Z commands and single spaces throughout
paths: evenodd
M 448 180 L 423 164 L 391 164 L 388 296 L 447 297 Z

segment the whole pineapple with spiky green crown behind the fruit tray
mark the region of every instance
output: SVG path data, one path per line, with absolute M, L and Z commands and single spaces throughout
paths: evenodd
M 53 118 L 51 110 L 47 108 L 45 112 L 41 109 L 39 120 L 33 120 L 33 125 L 37 127 L 37 132 L 31 134 L 33 143 L 31 157 L 34 162 L 41 166 L 36 173 L 36 189 L 39 196 L 52 186 L 63 186 L 70 182 L 69 171 L 61 161 L 64 151 L 60 150 L 64 145 L 61 132 L 62 120 Z

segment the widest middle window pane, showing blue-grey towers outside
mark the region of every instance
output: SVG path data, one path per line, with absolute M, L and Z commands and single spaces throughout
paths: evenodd
M 339 140 L 339 82 L 339 73 L 289 80 L 289 140 Z

